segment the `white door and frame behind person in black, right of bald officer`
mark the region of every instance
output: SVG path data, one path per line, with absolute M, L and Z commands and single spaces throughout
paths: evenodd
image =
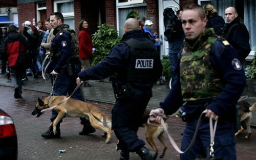
M 164 40 L 164 23 L 163 23 L 163 11 L 165 8 L 172 8 L 175 13 L 180 9 L 179 0 L 161 0 L 159 1 L 159 35 L 163 37 L 163 44 L 161 45 L 161 55 L 168 55 L 168 41 Z

